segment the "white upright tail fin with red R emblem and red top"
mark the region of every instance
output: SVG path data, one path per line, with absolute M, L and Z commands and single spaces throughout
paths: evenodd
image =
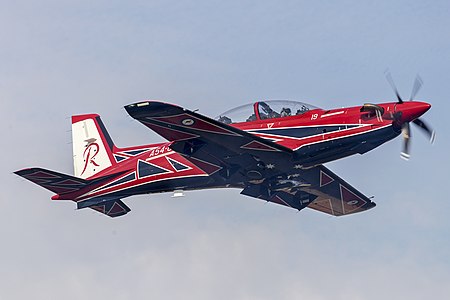
M 116 163 L 114 143 L 99 115 L 72 116 L 72 141 L 76 177 L 89 178 Z

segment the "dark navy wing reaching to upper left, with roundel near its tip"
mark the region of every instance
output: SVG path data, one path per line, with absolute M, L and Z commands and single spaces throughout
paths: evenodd
M 289 148 L 172 104 L 147 101 L 125 109 L 172 141 L 170 148 L 200 169 L 210 175 L 219 172 L 217 179 L 237 182 L 273 176 L 279 169 L 272 165 L 291 161 L 295 155 Z

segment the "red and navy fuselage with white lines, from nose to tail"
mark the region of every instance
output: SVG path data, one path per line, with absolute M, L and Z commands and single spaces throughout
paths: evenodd
M 296 115 L 262 118 L 255 105 L 254 119 L 229 125 L 268 139 L 295 151 L 296 158 L 284 168 L 295 170 L 334 161 L 356 153 L 365 153 L 395 138 L 401 124 L 417 118 L 429 105 L 411 101 L 367 104 L 348 108 L 319 108 Z M 172 142 L 138 147 L 115 148 L 117 165 L 92 178 L 111 176 L 107 184 L 65 194 L 57 199 L 83 201 L 98 197 L 126 197 L 135 194 L 195 190 L 220 187 L 243 187 L 242 177 L 214 176 L 217 166 L 193 164 L 171 149 Z M 201 167 L 199 167 L 201 166 Z M 267 166 L 270 169 L 270 166 Z

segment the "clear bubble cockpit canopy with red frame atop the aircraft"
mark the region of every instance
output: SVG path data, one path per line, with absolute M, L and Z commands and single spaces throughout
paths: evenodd
M 259 101 L 233 108 L 215 119 L 225 124 L 252 122 L 301 115 L 317 108 L 310 104 L 290 100 Z

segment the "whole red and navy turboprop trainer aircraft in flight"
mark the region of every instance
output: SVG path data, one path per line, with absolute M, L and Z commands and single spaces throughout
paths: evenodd
M 168 142 L 118 148 L 95 114 L 72 117 L 75 176 L 42 168 L 15 172 L 110 217 L 130 209 L 123 198 L 149 193 L 238 188 L 241 194 L 334 216 L 375 206 L 323 164 L 363 154 L 403 133 L 409 123 L 429 137 L 419 101 L 323 110 L 295 101 L 258 101 L 212 119 L 195 111 L 143 101 L 126 111 Z

